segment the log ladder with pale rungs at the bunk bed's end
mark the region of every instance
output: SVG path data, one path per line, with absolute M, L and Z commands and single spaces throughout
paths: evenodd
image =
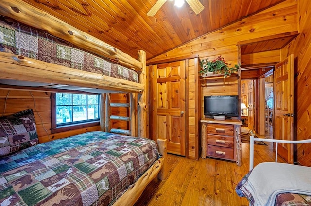
M 137 114 L 136 114 L 136 94 L 134 93 L 128 93 L 130 96 L 130 103 L 114 103 L 111 102 L 110 93 L 106 94 L 106 100 L 105 100 L 105 106 L 106 106 L 106 114 L 105 114 L 105 129 L 106 132 L 112 132 L 117 134 L 123 134 L 123 135 L 130 135 L 133 137 L 137 137 L 137 130 L 136 130 L 136 124 L 137 124 Z M 111 108 L 112 107 L 126 107 L 130 108 L 130 116 L 116 116 L 111 115 Z M 121 121 L 127 121 L 130 122 L 130 130 L 126 129 L 117 129 L 117 128 L 111 128 L 111 120 L 121 120 Z

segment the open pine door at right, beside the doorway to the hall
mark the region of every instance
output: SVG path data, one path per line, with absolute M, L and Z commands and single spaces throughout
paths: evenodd
M 283 62 L 276 64 L 275 86 L 275 129 L 274 136 L 278 140 L 293 140 L 294 112 L 294 55 L 291 54 Z M 278 155 L 288 163 L 294 163 L 293 144 L 278 143 Z

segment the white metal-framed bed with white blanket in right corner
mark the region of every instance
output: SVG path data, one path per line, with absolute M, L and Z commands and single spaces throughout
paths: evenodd
M 254 141 L 276 143 L 275 162 L 263 162 L 254 168 Z M 249 172 L 240 180 L 236 192 L 246 197 L 250 206 L 310 206 L 311 167 L 277 162 L 278 143 L 311 143 L 306 140 L 254 138 L 250 132 Z

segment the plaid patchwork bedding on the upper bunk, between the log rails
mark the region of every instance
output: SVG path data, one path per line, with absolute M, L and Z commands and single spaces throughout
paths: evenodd
M 138 82 L 134 70 L 3 16 L 0 16 L 0 51 Z

